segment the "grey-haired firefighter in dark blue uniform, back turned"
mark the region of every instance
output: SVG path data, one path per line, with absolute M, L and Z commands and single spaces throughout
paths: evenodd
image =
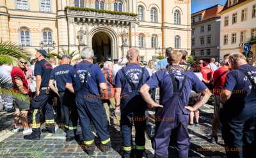
M 83 133 L 83 147 L 88 155 L 92 155 L 95 150 L 94 135 L 92 133 L 92 123 L 97 131 L 102 145 L 102 152 L 106 152 L 111 147 L 108 132 L 108 119 L 102 100 L 100 90 L 107 88 L 104 75 L 99 66 L 92 64 L 92 48 L 84 48 L 81 52 L 83 61 L 79 62 L 70 71 L 66 87 L 71 92 L 76 93 L 76 106 Z

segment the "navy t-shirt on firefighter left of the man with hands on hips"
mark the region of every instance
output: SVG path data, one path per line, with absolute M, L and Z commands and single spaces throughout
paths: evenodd
M 134 86 L 138 87 L 138 83 L 140 82 L 143 68 L 139 64 L 132 63 L 132 64 L 128 64 L 127 66 L 125 66 L 122 69 L 124 69 L 125 75 L 134 84 Z M 143 81 L 142 81 L 140 87 L 145 82 L 147 82 L 148 78 L 149 78 L 149 73 L 148 73 L 147 69 L 145 69 L 144 75 L 143 75 Z M 125 77 L 124 77 L 121 69 L 116 73 L 113 85 L 115 85 L 115 87 L 122 87 L 121 95 L 125 95 L 129 92 L 132 92 L 132 88 L 129 85 L 129 83 L 127 82 L 127 80 L 125 80 Z

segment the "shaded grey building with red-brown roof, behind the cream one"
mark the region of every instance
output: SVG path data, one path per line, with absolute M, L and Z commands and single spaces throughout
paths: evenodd
M 211 8 L 191 14 L 191 46 L 194 59 L 209 60 L 220 56 L 220 15 L 223 6 L 217 4 Z

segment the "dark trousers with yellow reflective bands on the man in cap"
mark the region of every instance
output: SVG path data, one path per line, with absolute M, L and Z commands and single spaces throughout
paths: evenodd
M 34 134 L 41 134 L 41 120 L 40 112 L 43 111 L 45 115 L 45 127 L 46 129 L 55 130 L 54 124 L 54 113 L 52 108 L 52 92 L 47 94 L 47 90 L 40 90 L 39 96 L 36 96 L 31 103 L 31 113 L 32 113 L 32 131 Z

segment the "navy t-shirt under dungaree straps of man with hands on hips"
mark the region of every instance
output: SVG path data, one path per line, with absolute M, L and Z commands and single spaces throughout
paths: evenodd
M 192 71 L 180 71 L 178 68 L 172 70 L 164 69 L 157 71 L 150 77 L 146 84 L 150 87 L 150 89 L 160 87 L 160 104 L 166 103 L 166 101 L 168 101 L 168 99 L 173 96 L 173 84 L 169 71 L 175 75 L 175 78 L 179 83 L 178 89 L 180 89 L 182 86 L 184 75 L 187 76 L 184 88 L 181 92 L 182 94 L 180 96 L 186 104 L 188 104 L 191 90 L 200 92 L 201 90 L 205 90 L 207 88 Z

